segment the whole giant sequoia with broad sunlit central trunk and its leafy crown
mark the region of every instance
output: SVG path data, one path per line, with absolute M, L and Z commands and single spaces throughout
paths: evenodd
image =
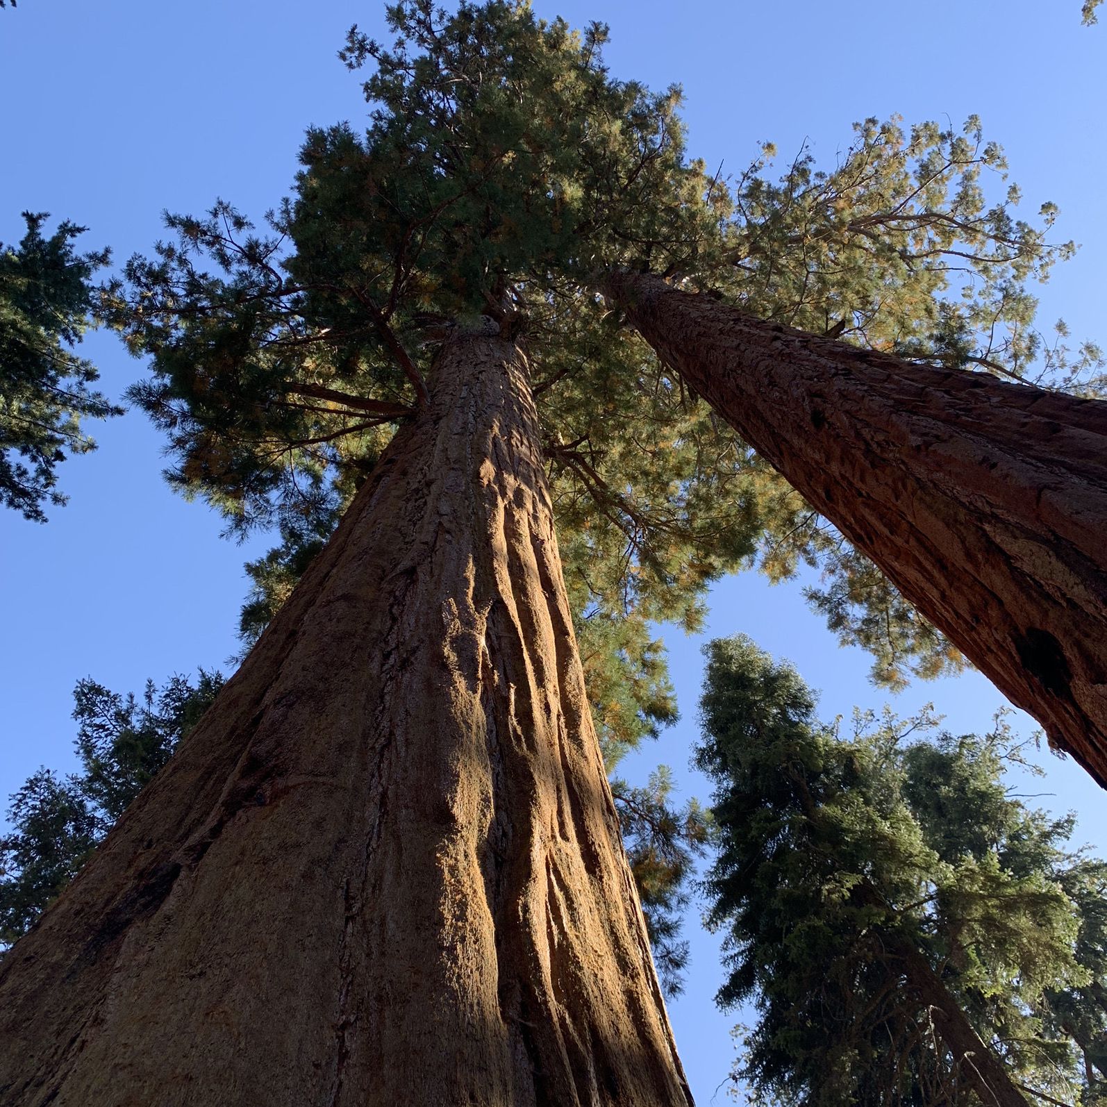
M 225 203 L 170 217 L 105 293 L 170 479 L 280 528 L 254 628 L 279 610 L 0 966 L 11 1101 L 687 1099 L 603 754 L 672 713 L 649 621 L 694 624 L 808 509 L 593 288 L 715 271 L 735 208 L 684 161 L 676 92 L 607 75 L 602 28 L 500 0 L 390 19 L 395 48 L 343 51 L 376 65 L 368 131 L 309 133 L 271 235 Z M 960 148 L 872 124 L 850 164 Z M 960 218 L 997 158 L 920 203 Z M 1025 309 L 1052 254 L 1008 238 L 970 307 L 1006 282 Z M 826 312 L 879 281 L 873 334 L 921 341 L 944 255 L 910 261 L 763 291 Z

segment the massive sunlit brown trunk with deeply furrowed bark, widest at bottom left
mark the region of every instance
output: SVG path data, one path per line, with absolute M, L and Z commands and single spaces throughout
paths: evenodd
M 0 966 L 0 1103 L 684 1105 L 521 355 L 447 345 L 241 670 Z

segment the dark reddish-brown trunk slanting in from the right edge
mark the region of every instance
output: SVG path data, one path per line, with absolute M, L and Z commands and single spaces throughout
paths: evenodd
M 644 273 L 606 291 L 1107 787 L 1107 403 L 759 322 Z

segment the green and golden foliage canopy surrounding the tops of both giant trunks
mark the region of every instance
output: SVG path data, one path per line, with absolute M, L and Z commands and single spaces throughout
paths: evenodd
M 507 0 L 389 9 L 389 49 L 341 52 L 369 126 L 314 130 L 292 196 L 257 234 L 229 205 L 172 216 L 108 301 L 153 376 L 172 479 L 234 529 L 277 524 L 251 567 L 256 632 L 330 532 L 399 421 L 424 402 L 446 329 L 490 315 L 531 358 L 567 580 L 599 722 L 618 748 L 672 714 L 645 620 L 692 624 L 705 584 L 757 557 L 821 563 L 831 624 L 889 683 L 955 654 L 868 563 L 715 421 L 592 291 L 648 268 L 749 311 L 878 349 L 1069 380 L 1096 351 L 1044 349 L 1025 281 L 1070 247 L 989 200 L 1002 153 L 964 132 L 867 121 L 829 172 L 766 151 L 727 183 L 684 154 L 675 89 L 603 68 L 575 33 Z M 604 659 L 621 659 L 614 669 Z M 617 687 L 637 686 L 633 702 Z M 602 691 L 597 692 L 600 689 Z

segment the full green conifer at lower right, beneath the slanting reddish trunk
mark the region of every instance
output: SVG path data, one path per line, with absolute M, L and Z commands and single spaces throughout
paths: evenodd
M 720 1001 L 758 1011 L 741 1077 L 813 1107 L 1097 1101 L 1107 865 L 1007 794 L 1006 728 L 858 715 L 842 738 L 748 639 L 705 652 Z

